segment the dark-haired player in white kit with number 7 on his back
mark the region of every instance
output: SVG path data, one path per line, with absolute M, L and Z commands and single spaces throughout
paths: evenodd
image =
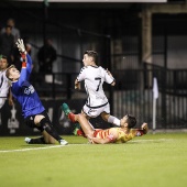
M 110 114 L 110 105 L 103 91 L 103 82 L 116 85 L 111 73 L 101 66 L 97 66 L 98 53 L 86 51 L 84 54 L 84 67 L 75 80 L 75 89 L 80 89 L 80 81 L 85 81 L 85 89 L 88 95 L 81 113 L 89 120 L 101 116 L 101 118 L 114 125 L 120 127 L 120 120 Z

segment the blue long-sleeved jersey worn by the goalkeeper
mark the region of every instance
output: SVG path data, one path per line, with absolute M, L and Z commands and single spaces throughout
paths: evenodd
M 22 116 L 24 118 L 41 113 L 45 110 L 34 87 L 29 82 L 32 72 L 32 59 L 26 54 L 26 67 L 22 67 L 20 78 L 12 82 L 11 91 L 13 97 L 22 106 Z

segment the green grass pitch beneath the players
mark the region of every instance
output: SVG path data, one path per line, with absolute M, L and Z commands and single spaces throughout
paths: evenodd
M 186 133 L 147 134 L 106 145 L 64 138 L 69 145 L 55 147 L 28 145 L 24 138 L 0 138 L 0 186 L 187 186 Z M 40 147 L 44 148 L 34 150 Z

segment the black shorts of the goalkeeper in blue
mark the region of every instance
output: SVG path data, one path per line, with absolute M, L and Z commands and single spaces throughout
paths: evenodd
M 40 124 L 36 125 L 34 123 L 34 118 L 35 118 L 35 116 L 38 116 L 38 114 L 44 116 L 47 120 L 50 120 L 47 112 L 44 110 L 42 113 L 37 113 L 37 114 L 34 114 L 34 116 L 26 117 L 24 119 L 24 123 L 32 129 L 36 128 L 38 131 L 43 132 L 44 131 L 43 127 L 41 127 Z

